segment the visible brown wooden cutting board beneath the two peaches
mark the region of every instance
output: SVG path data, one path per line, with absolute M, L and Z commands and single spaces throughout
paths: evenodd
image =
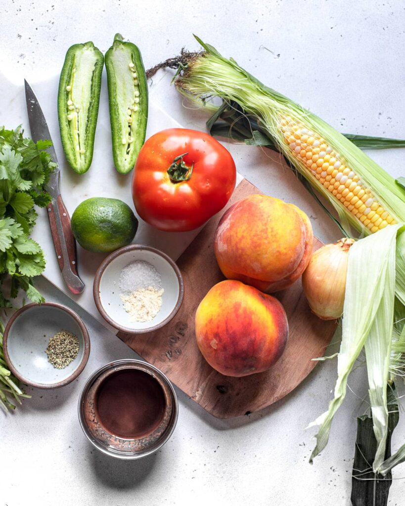
M 262 192 L 247 180 L 242 181 L 227 207 L 253 193 Z M 294 390 L 317 364 L 312 359 L 325 353 L 336 321 L 320 320 L 310 312 L 301 281 L 297 281 L 276 294 L 286 310 L 290 328 L 286 351 L 278 362 L 265 372 L 240 378 L 215 371 L 197 348 L 194 314 L 208 290 L 225 279 L 213 248 L 221 216 L 219 213 L 208 222 L 177 261 L 184 280 L 184 302 L 176 317 L 154 332 L 117 335 L 211 414 L 229 418 L 258 411 Z M 315 238 L 313 249 L 321 245 Z

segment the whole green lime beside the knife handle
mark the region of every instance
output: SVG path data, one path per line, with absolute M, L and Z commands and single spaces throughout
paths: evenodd
M 76 241 L 84 249 L 108 253 L 132 242 L 138 220 L 122 200 L 93 197 L 76 207 L 71 226 Z

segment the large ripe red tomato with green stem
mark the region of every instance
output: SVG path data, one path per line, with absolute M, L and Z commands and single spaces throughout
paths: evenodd
M 169 129 L 139 152 L 132 198 L 139 216 L 160 230 L 185 232 L 203 225 L 228 202 L 236 167 L 229 151 L 209 134 Z

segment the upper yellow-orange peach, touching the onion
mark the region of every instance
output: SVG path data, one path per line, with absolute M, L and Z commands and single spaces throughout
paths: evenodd
M 293 204 L 250 195 L 231 205 L 214 239 L 224 276 L 272 293 L 296 281 L 308 265 L 313 233 L 307 215 Z

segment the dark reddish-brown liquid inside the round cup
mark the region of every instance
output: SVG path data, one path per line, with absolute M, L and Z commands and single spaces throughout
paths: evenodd
M 163 420 L 165 395 L 154 377 L 136 369 L 107 376 L 98 388 L 96 413 L 104 429 L 124 439 L 151 434 Z

